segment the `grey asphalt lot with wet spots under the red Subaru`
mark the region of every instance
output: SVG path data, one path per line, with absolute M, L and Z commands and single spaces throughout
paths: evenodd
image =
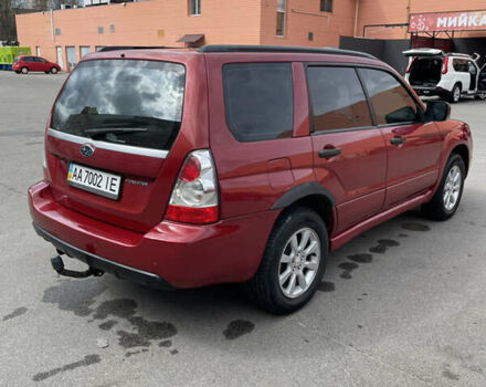
M 237 285 L 54 273 L 27 189 L 64 79 L 0 72 L 1 387 L 486 386 L 486 102 L 452 108 L 474 136 L 455 217 L 411 211 L 367 231 L 330 255 L 305 308 L 275 317 Z

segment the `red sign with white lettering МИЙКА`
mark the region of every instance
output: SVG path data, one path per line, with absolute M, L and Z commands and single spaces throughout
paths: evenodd
M 486 10 L 440 13 L 411 13 L 409 32 L 486 30 Z

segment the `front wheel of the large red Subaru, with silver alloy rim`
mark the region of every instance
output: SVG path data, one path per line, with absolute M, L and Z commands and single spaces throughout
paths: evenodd
M 451 181 L 451 177 L 457 171 L 459 171 L 461 175 L 457 180 L 458 185 L 455 185 L 454 178 Z M 422 206 L 422 211 L 435 220 L 447 220 L 451 218 L 459 207 L 465 176 L 466 166 L 463 158 L 457 154 L 452 154 L 444 168 L 444 174 L 442 175 L 436 192 L 430 202 Z M 454 205 L 452 205 L 452 200 L 454 200 Z

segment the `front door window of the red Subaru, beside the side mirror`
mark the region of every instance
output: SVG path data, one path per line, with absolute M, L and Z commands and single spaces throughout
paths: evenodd
M 419 106 L 391 74 L 371 69 L 359 70 L 373 107 L 378 125 L 410 123 L 419 119 Z

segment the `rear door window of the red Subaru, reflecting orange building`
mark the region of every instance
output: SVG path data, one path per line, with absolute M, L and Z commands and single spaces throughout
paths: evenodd
M 315 132 L 372 125 L 355 69 L 310 66 L 307 82 Z

